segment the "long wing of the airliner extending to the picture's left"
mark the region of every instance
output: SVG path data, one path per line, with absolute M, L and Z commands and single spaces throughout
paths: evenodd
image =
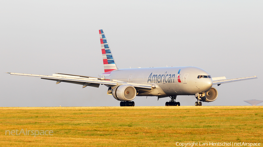
M 136 89 L 149 89 L 149 90 L 151 90 L 152 88 L 153 89 L 155 88 L 155 85 L 151 85 L 151 84 L 127 83 L 127 82 L 116 81 L 116 80 L 110 81 L 110 80 L 105 80 L 105 78 L 100 78 L 100 77 L 80 76 L 80 75 L 72 75 L 72 74 L 64 74 L 64 73 L 53 74 L 52 76 L 24 74 L 24 73 L 10 73 L 10 75 L 35 77 L 35 78 L 41 78 L 41 79 L 46 79 L 46 80 L 53 80 L 53 81 L 57 81 L 56 84 L 60 82 L 80 84 L 80 85 L 83 85 L 82 88 L 86 86 L 99 87 L 100 84 L 109 85 L 109 86 L 115 86 L 119 84 L 129 84 L 135 87 Z

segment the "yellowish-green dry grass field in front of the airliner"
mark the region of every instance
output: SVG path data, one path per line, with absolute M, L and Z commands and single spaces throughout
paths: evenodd
M 262 106 L 4 107 L 0 146 L 176 146 L 261 143 Z M 5 135 L 53 130 L 52 136 Z

